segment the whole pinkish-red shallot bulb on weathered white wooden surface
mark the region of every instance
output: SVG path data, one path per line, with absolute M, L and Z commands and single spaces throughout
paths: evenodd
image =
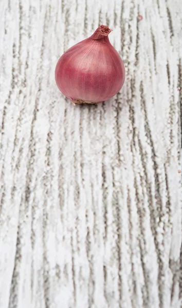
M 103 102 L 123 86 L 125 69 L 108 39 L 111 31 L 101 25 L 93 35 L 60 57 L 55 70 L 56 83 L 72 104 Z

